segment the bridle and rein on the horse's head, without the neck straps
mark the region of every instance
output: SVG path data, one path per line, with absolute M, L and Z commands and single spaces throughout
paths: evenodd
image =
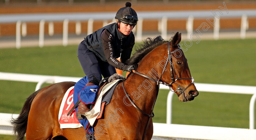
M 193 77 L 192 77 L 192 78 L 179 78 L 179 77 L 177 76 L 176 71 L 175 71 L 174 66 L 173 66 L 173 63 L 172 63 L 172 53 L 175 53 L 177 50 L 181 50 L 180 45 L 179 45 L 179 44 L 177 44 L 177 45 L 178 45 L 179 48 L 171 52 L 170 42 L 169 42 L 169 41 L 167 42 L 168 57 L 167 57 L 167 60 L 166 60 L 166 62 L 165 62 L 165 67 L 164 67 L 164 69 L 163 69 L 163 71 L 162 71 L 162 74 L 161 74 L 161 76 L 160 76 L 160 78 L 159 78 L 158 80 L 153 79 L 153 78 L 151 78 L 151 77 L 148 77 L 148 76 L 146 76 L 146 75 L 144 75 L 144 74 L 141 74 L 141 73 L 139 73 L 139 72 L 137 72 L 137 71 L 133 71 L 133 72 L 136 73 L 136 74 L 138 74 L 138 75 L 140 75 L 140 76 L 143 76 L 143 77 L 145 77 L 145 78 L 148 78 L 148 79 L 150 79 L 150 80 L 153 80 L 153 81 L 157 82 L 157 85 L 158 85 L 158 84 L 163 84 L 163 85 L 168 86 L 169 89 L 170 89 L 172 92 L 177 92 L 177 91 L 181 90 L 181 92 L 178 94 L 178 97 L 179 97 L 185 90 L 187 90 L 188 87 L 190 87 L 192 84 L 194 84 L 194 79 L 193 79 Z M 172 82 L 171 82 L 170 84 L 165 83 L 165 82 L 162 81 L 162 76 L 163 76 L 163 74 L 164 74 L 164 71 L 165 71 L 165 68 L 166 68 L 168 62 L 170 63 L 171 80 L 172 80 Z M 173 71 L 173 72 L 172 72 L 172 71 Z M 176 79 L 174 79 L 173 73 L 174 73 Z M 178 83 L 176 82 L 177 80 L 182 80 L 182 79 L 192 80 L 192 82 L 191 82 L 186 88 L 184 88 L 183 90 L 180 88 L 180 84 L 178 84 Z M 173 89 L 172 89 L 172 84 L 174 84 L 174 83 L 178 84 L 177 90 L 173 90 Z

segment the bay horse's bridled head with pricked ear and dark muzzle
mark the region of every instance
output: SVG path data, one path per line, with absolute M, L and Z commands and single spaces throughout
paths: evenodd
M 187 64 L 187 59 L 180 48 L 181 33 L 176 32 L 172 41 L 167 43 L 168 63 L 166 66 L 168 74 L 163 74 L 162 81 L 170 83 L 170 90 L 173 90 L 179 100 L 186 102 L 194 100 L 199 93 L 194 85 L 194 79 L 191 77 Z M 166 73 L 166 72 L 165 72 Z

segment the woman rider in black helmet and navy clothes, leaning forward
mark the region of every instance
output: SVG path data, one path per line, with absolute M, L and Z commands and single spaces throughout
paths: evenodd
M 137 68 L 122 63 L 131 56 L 135 40 L 132 29 L 138 21 L 131 3 L 126 2 L 125 6 L 117 11 L 116 22 L 88 35 L 78 46 L 77 57 L 89 81 L 78 95 L 81 101 L 76 112 L 78 119 L 83 119 L 81 115 L 90 110 L 88 104 L 94 103 L 102 76 L 115 74 L 115 68 L 129 72 Z

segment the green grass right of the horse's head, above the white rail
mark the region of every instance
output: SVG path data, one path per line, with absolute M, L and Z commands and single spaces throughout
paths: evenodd
M 185 56 L 198 83 L 255 86 L 255 46 L 255 39 L 201 41 Z

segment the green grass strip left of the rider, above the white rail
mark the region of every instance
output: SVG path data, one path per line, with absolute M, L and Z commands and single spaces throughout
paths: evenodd
M 76 56 L 76 46 L 1 49 L 0 71 L 81 77 L 84 72 Z

